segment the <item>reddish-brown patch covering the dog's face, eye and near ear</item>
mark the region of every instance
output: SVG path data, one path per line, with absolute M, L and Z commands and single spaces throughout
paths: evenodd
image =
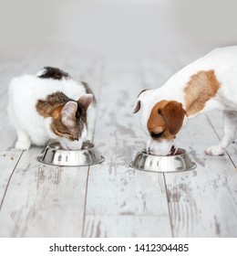
M 177 101 L 160 101 L 150 112 L 148 130 L 152 138 L 172 140 L 175 134 L 180 131 L 185 111 Z M 160 137 L 155 134 L 162 133 Z

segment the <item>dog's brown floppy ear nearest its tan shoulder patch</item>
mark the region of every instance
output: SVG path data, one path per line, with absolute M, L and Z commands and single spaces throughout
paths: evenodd
M 163 117 L 170 133 L 179 133 L 185 115 L 182 104 L 178 101 L 169 101 L 163 109 L 159 110 L 159 113 Z

